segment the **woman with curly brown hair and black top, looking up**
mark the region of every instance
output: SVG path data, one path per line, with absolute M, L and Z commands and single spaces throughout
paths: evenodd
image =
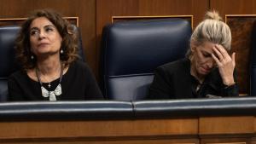
M 16 40 L 22 70 L 9 77 L 9 101 L 103 99 L 89 66 L 78 59 L 77 33 L 61 14 L 37 10 Z

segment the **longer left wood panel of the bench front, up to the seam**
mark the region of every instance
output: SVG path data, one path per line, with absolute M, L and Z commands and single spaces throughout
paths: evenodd
M 0 128 L 0 143 L 198 143 L 197 118 L 0 122 Z

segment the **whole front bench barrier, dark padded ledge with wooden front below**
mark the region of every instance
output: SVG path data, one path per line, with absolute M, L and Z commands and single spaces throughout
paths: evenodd
M 0 103 L 0 143 L 255 143 L 256 98 Z

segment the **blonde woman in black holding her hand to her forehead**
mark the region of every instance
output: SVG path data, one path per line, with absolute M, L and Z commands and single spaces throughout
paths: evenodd
M 235 53 L 229 55 L 230 49 L 230 27 L 217 12 L 207 12 L 190 37 L 187 57 L 156 69 L 150 99 L 238 96 Z

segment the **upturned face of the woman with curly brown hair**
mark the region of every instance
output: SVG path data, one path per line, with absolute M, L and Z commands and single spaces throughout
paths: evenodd
M 37 57 L 59 55 L 62 37 L 57 28 L 45 17 L 32 20 L 30 26 L 31 50 Z

